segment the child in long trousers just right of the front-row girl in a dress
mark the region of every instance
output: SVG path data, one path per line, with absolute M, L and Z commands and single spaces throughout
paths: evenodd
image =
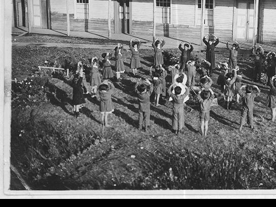
M 144 125 L 145 131 L 148 132 L 151 117 L 150 97 L 153 93 L 153 85 L 148 79 L 146 82 L 148 85 L 141 83 L 140 79 L 135 85 L 135 93 L 139 100 L 139 130 L 142 130 Z

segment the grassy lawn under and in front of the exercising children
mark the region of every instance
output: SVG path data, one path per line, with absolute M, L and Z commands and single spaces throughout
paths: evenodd
M 276 187 L 276 127 L 269 122 L 264 106 L 269 88 L 256 99 L 255 129 L 238 131 L 240 105 L 226 111 L 211 111 L 209 136 L 199 133 L 197 106 L 185 107 L 186 128 L 171 133 L 172 105 L 151 106 L 151 130 L 137 129 L 137 100 L 133 92 L 137 79 L 127 73 L 116 83 L 116 110 L 110 117 L 113 128 L 102 131 L 99 102 L 87 99 L 79 119 L 72 116 L 73 89 L 70 80 L 45 76 L 38 66 L 45 60 L 62 67 L 106 52 L 98 49 L 13 48 L 13 78 L 33 84 L 30 89 L 13 86 L 12 163 L 32 189 L 36 190 L 159 190 L 159 189 L 274 189 Z M 111 52 L 111 51 L 110 51 Z M 177 50 L 171 50 L 177 54 Z M 141 50 L 141 78 L 149 78 L 152 50 Z M 203 58 L 204 53 L 194 53 Z M 217 62 L 226 60 L 217 55 Z M 245 84 L 252 84 L 253 63 L 240 56 Z M 218 72 L 214 76 L 214 89 Z M 32 77 L 33 76 L 33 77 Z M 25 79 L 26 78 L 26 79 Z M 24 81 L 25 79 L 25 81 Z M 169 77 L 168 77 L 169 80 Z M 28 83 L 27 83 L 28 84 Z M 168 83 L 169 86 L 169 83 Z

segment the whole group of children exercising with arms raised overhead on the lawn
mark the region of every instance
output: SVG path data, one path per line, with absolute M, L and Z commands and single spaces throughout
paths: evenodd
M 207 42 L 206 39 L 209 38 Z M 206 59 L 204 60 L 195 60 L 191 57 L 193 51 L 193 46 L 191 44 L 180 44 L 179 49 L 182 52 L 181 55 L 181 65 L 176 64 L 168 67 L 168 72 L 171 73 L 171 83 L 172 85 L 166 91 L 166 80 L 168 73 L 163 68 L 164 59 L 162 54 L 162 48 L 165 45 L 165 41 L 162 39 L 157 39 L 153 42 L 152 46 L 154 48 L 154 68 L 155 71 L 152 73 L 151 68 L 151 78 L 152 81 L 146 80 L 142 81 L 141 79 L 135 85 L 135 93 L 139 100 L 139 129 L 149 130 L 150 127 L 150 97 L 152 94 L 155 95 L 155 106 L 159 107 L 160 96 L 166 96 L 168 94 L 169 100 L 173 103 L 172 110 L 172 131 L 175 134 L 181 133 L 185 121 L 184 121 L 184 103 L 189 100 L 190 89 L 193 90 L 195 86 L 195 76 L 196 73 L 200 74 L 200 86 L 201 90 L 197 94 L 198 103 L 200 106 L 200 121 L 201 121 L 201 132 L 203 136 L 207 135 L 208 132 L 208 123 L 210 120 L 210 111 L 212 101 L 215 98 L 215 93 L 211 89 L 213 81 L 211 79 L 213 68 L 215 67 L 215 47 L 219 43 L 219 39 L 216 36 L 204 37 L 204 43 L 207 45 Z M 137 68 L 141 67 L 140 62 L 140 53 L 139 49 L 141 42 L 136 40 L 133 42 L 133 39 L 130 41 L 130 51 L 132 53 L 131 58 L 131 68 L 133 75 L 137 73 Z M 240 130 L 243 129 L 243 126 L 246 123 L 246 118 L 248 118 L 248 123 L 251 128 L 254 128 L 253 123 L 253 109 L 254 109 L 254 100 L 260 95 L 260 90 L 257 86 L 242 86 L 242 73 L 239 71 L 237 66 L 237 55 L 239 46 L 238 43 L 229 46 L 227 43 L 227 48 L 230 51 L 229 65 L 227 63 L 220 63 L 218 68 L 221 68 L 221 74 L 218 79 L 218 85 L 221 86 L 222 92 L 225 94 L 226 100 L 226 109 L 231 110 L 233 97 L 237 96 L 237 102 L 239 99 L 243 100 L 243 108 L 241 113 L 240 121 Z M 121 44 L 115 49 L 115 68 L 117 74 L 117 80 L 120 79 L 120 74 L 125 72 L 124 63 L 122 60 L 123 56 L 123 47 Z M 256 50 L 256 55 L 259 54 L 258 49 Z M 269 56 L 273 53 L 269 53 Z M 114 112 L 114 105 L 112 102 L 112 94 L 114 93 L 114 85 L 110 81 L 113 78 L 112 65 L 110 62 L 112 54 L 105 53 L 102 54 L 102 77 L 99 72 L 99 60 L 97 57 L 92 58 L 90 71 L 90 85 L 92 87 L 92 97 L 96 96 L 97 89 L 99 90 L 100 96 L 100 113 L 102 114 L 102 124 L 103 127 L 110 127 L 108 124 L 109 114 Z M 275 55 L 274 55 L 275 57 Z M 189 59 L 188 59 L 189 58 Z M 200 65 L 200 70 L 196 67 Z M 184 70 L 187 70 L 187 75 L 184 73 Z M 74 103 L 74 113 L 78 117 L 79 110 L 83 103 L 85 103 L 84 93 L 82 89 L 82 84 L 84 84 L 83 78 L 83 64 L 82 62 L 78 63 L 77 74 L 73 80 L 73 103 Z M 101 81 L 101 78 L 104 80 Z M 275 121 L 276 116 L 276 77 L 275 75 L 271 77 L 269 81 L 271 87 L 269 96 L 266 101 L 266 106 L 271 108 L 272 111 L 272 121 Z M 253 89 L 256 88 L 257 91 Z M 244 90 L 245 89 L 245 90 Z M 194 92 L 194 90 L 193 90 Z

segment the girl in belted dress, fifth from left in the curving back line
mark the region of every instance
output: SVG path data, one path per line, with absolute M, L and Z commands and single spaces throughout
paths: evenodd
M 134 39 L 131 39 L 129 43 L 129 48 L 132 54 L 130 67 L 132 69 L 133 76 L 135 77 L 137 75 L 137 68 L 141 67 L 140 52 L 139 52 L 139 49 L 141 47 L 141 42 L 139 39 L 137 39 L 137 42 L 133 42 L 133 40 Z

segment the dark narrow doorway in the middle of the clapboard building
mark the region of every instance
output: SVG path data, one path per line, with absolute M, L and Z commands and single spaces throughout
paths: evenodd
M 122 33 L 130 33 L 130 8 L 129 0 L 119 1 L 119 28 Z

